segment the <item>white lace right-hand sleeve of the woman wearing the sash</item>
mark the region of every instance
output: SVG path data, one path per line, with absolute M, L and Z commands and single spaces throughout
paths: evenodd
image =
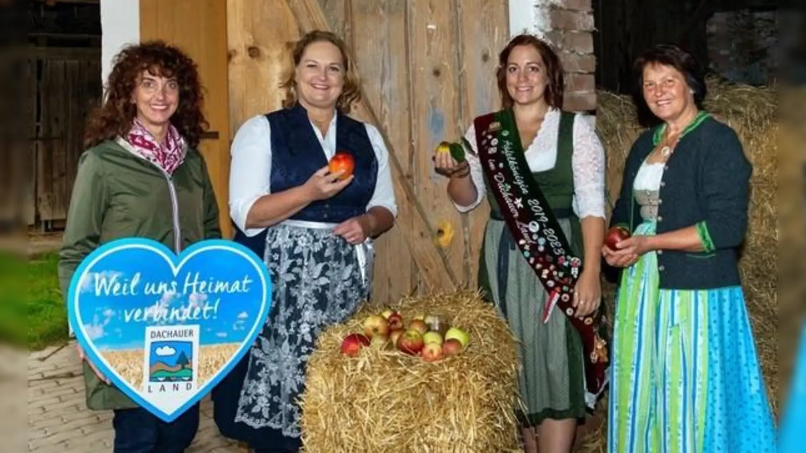
M 580 218 L 605 218 L 605 149 L 589 116 L 574 120 L 574 211 Z

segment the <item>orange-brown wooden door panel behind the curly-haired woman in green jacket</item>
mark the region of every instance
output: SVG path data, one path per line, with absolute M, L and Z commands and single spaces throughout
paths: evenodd
M 230 125 L 226 75 L 224 0 L 140 0 L 140 40 L 164 39 L 188 52 L 198 64 L 210 131 L 200 145 L 218 200 L 222 233 L 231 237 L 227 206 Z

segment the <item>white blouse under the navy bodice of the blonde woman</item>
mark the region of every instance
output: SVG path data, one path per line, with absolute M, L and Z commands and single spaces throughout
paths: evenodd
M 397 217 L 397 204 L 392 186 L 392 174 L 388 165 L 388 150 L 376 127 L 364 123 L 372 149 L 378 160 L 378 176 L 375 192 L 367 204 L 367 210 L 382 206 Z M 327 160 L 336 153 L 336 116 L 330 121 L 327 133 L 314 127 Z M 247 214 L 251 206 L 264 195 L 271 193 L 272 176 L 272 130 L 268 119 L 260 114 L 249 118 L 235 133 L 232 141 L 230 164 L 230 216 L 247 236 L 258 235 L 264 228 L 246 228 Z

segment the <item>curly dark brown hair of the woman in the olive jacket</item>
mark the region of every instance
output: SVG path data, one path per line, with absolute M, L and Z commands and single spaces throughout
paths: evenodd
M 126 135 L 137 115 L 131 102 L 143 71 L 156 77 L 174 77 L 179 85 L 179 105 L 171 124 L 190 148 L 196 148 L 202 132 L 210 127 L 202 113 L 204 94 L 198 68 L 185 52 L 161 40 L 131 44 L 114 57 L 106 81 L 106 95 L 87 118 L 84 146 L 93 147 L 118 135 Z

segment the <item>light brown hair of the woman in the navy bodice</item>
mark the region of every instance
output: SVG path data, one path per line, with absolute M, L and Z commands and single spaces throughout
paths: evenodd
M 339 94 L 339 99 L 336 100 L 336 109 L 344 114 L 350 113 L 353 104 L 359 102 L 361 99 L 361 89 L 359 88 L 359 78 L 355 71 L 355 66 L 350 60 L 347 52 L 347 44 L 344 44 L 343 39 L 330 31 L 314 30 L 309 31 L 305 36 L 294 44 L 293 51 L 291 52 L 292 66 L 289 70 L 288 76 L 285 81 L 280 84 L 280 88 L 285 89 L 285 100 L 283 106 L 285 108 L 292 107 L 297 102 L 297 80 L 295 78 L 295 69 L 302 60 L 302 55 L 305 49 L 310 44 L 326 41 L 333 44 L 339 51 L 342 52 L 342 60 L 344 64 L 344 88 L 342 94 Z

